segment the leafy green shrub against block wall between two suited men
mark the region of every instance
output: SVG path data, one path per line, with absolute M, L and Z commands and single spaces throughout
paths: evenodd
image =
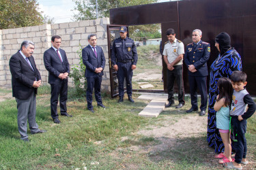
M 85 65 L 83 64 L 82 50 L 83 47 L 80 46 L 80 49 L 77 51 L 80 58 L 79 65 L 74 65 L 70 73 L 70 78 L 73 78 L 75 97 L 85 97 L 86 95 L 87 80 L 85 79 Z

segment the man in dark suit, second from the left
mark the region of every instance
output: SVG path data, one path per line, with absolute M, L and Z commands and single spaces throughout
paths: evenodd
M 57 112 L 58 98 L 61 116 L 72 117 L 67 113 L 66 106 L 70 64 L 66 52 L 59 48 L 61 37 L 54 35 L 51 40 L 53 46 L 44 52 L 44 66 L 49 71 L 48 83 L 51 84 L 51 116 L 53 122 L 60 123 Z

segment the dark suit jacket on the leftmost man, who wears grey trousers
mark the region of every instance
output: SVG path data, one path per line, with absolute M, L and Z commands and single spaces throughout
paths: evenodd
M 41 80 L 41 75 L 36 68 L 33 56 L 29 57 L 29 61 L 33 69 L 19 51 L 10 58 L 12 96 L 18 99 L 29 99 L 33 92 L 35 92 L 35 94 L 38 92 L 38 88 L 33 88 L 33 82 L 35 78 L 36 80 Z

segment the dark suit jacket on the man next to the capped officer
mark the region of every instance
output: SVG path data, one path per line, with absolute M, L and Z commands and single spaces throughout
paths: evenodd
M 95 73 L 95 69 L 98 67 L 105 67 L 105 56 L 101 47 L 96 46 L 97 51 L 97 58 L 94 54 L 94 51 L 91 49 L 91 46 L 88 45 L 87 47 L 83 48 L 82 50 L 82 57 L 83 57 L 83 64 L 86 66 L 85 69 L 85 78 L 95 78 L 96 76 L 104 75 L 103 70 L 100 73 Z

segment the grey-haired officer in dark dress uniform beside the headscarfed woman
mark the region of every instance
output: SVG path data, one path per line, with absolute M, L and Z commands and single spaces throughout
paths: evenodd
M 186 46 L 186 53 L 184 61 L 188 67 L 188 81 L 190 87 L 190 98 L 192 107 L 186 112 L 196 112 L 197 106 L 197 87 L 201 95 L 201 112 L 199 116 L 205 115 L 207 107 L 208 93 L 207 93 L 207 75 L 208 67 L 207 61 L 210 57 L 210 44 L 201 41 L 202 31 L 195 29 L 192 34 L 193 43 Z

